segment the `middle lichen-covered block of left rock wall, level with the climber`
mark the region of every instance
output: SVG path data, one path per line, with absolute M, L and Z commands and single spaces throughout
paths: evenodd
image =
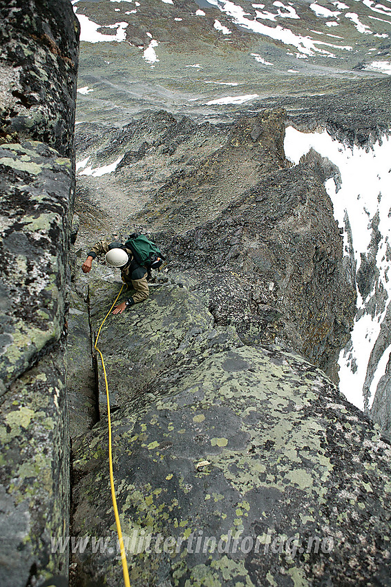
M 0 146 L 0 395 L 64 327 L 71 162 L 38 142 Z

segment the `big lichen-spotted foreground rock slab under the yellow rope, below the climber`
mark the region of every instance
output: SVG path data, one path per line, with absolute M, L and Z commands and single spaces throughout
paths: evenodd
M 93 307 L 103 315 L 117 292 L 97 287 Z M 99 348 L 123 398 L 114 476 L 132 585 L 388 584 L 390 446 L 323 372 L 276 347 L 244 345 L 233 327 L 213 326 L 207 298 L 178 285 L 110 316 Z M 127 398 L 126 372 L 135 374 Z M 101 415 L 75 443 L 80 586 L 122 581 Z

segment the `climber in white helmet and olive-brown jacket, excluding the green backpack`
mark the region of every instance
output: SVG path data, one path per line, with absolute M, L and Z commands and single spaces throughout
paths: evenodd
M 119 267 L 121 269 L 122 280 L 126 284 L 131 284 L 131 287 L 135 290 L 133 296 L 115 306 L 113 314 L 122 314 L 127 308 L 139 302 L 144 302 L 148 298 L 149 287 L 146 280 L 148 273 L 145 267 L 142 267 L 142 265 L 135 261 L 131 249 L 127 249 L 121 242 L 107 242 L 106 240 L 97 242 L 89 251 L 86 260 L 82 264 L 84 273 L 88 273 L 91 270 L 93 260 L 98 255 L 105 255 L 106 262 L 111 267 Z

